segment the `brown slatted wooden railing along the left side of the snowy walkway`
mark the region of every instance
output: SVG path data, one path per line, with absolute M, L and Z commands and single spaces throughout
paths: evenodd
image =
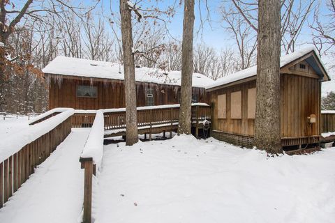
M 40 125 L 43 125 L 43 123 L 40 123 Z M 35 127 L 37 128 L 38 126 Z M 27 128 L 27 131 L 30 128 L 34 127 Z M 36 132 L 40 132 L 40 130 Z M 40 135 L 34 141 L 25 144 L 13 155 L 2 159 L 3 161 L 0 163 L 0 208 L 17 191 L 22 183 L 29 178 L 29 175 L 34 173 L 36 166 L 41 164 L 70 132 L 71 119 L 68 116 L 68 118 L 52 130 Z M 20 135 L 16 137 L 20 137 Z

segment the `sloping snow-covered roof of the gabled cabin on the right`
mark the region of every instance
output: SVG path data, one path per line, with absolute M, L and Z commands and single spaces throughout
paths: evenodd
M 284 66 L 288 65 L 288 63 L 291 63 L 299 58 L 301 58 L 301 56 L 304 56 L 306 54 L 309 54 L 310 52 L 315 52 L 315 55 L 318 56 L 318 53 L 315 49 L 315 47 L 306 47 L 304 49 L 300 49 L 297 50 L 296 52 L 293 52 L 291 54 L 287 54 L 284 56 L 281 56 L 281 68 L 283 68 Z M 318 57 L 319 61 L 322 64 L 321 59 Z M 313 68 L 318 69 L 316 70 L 317 72 L 322 72 L 320 70 L 320 68 L 316 67 L 317 64 L 315 63 L 314 59 L 306 59 L 307 63 L 311 63 L 310 65 L 313 66 Z M 325 69 L 325 66 L 322 64 L 323 66 L 323 70 Z M 248 77 L 253 77 L 257 75 L 257 66 L 253 66 L 251 68 L 247 68 L 245 70 L 240 70 L 239 72 L 234 72 L 230 75 L 227 75 L 225 77 L 221 77 L 219 79 L 217 79 L 213 84 L 209 84 L 206 86 L 206 89 L 213 89 L 217 86 L 223 86 L 225 84 L 230 84 L 232 82 L 237 82 L 241 79 L 246 79 Z

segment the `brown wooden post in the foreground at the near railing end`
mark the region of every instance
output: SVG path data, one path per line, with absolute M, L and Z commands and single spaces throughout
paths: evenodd
M 92 176 L 93 176 L 93 159 L 80 158 L 82 169 L 84 169 L 84 215 L 83 223 L 91 223 L 92 219 Z

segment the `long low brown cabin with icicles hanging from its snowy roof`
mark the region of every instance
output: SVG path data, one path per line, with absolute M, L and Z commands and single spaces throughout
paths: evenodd
M 49 85 L 49 109 L 125 107 L 124 68 L 118 63 L 57 56 L 43 72 Z M 137 67 L 135 80 L 137 107 L 172 105 L 180 101 L 180 71 Z M 209 102 L 205 86 L 213 82 L 194 73 L 193 102 Z

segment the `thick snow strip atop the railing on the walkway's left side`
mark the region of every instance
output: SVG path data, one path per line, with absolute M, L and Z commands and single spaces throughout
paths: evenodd
M 20 149 L 32 141 L 35 141 L 43 134 L 50 132 L 52 129 L 56 128 L 57 125 L 66 121 L 67 118 L 74 114 L 74 109 L 66 109 L 61 114 L 52 116 L 47 120 L 36 123 L 35 125 L 29 125 L 15 134 L 12 134 L 6 139 L 1 139 L 0 141 L 0 163 L 6 160 L 11 155 L 20 151 Z

